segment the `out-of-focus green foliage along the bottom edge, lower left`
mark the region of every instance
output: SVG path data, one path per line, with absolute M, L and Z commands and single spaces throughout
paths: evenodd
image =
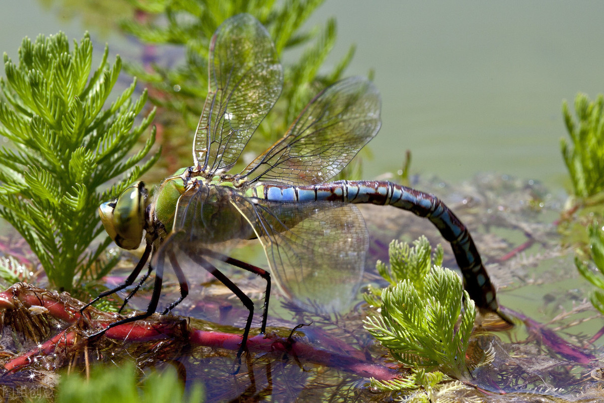
M 93 366 L 90 379 L 82 375 L 62 375 L 57 387 L 57 403 L 71 402 L 120 402 L 120 403 L 179 403 L 203 402 L 201 384 L 188 390 L 184 399 L 184 385 L 179 381 L 176 370 L 166 367 L 161 373 L 153 371 L 145 376 L 142 384 L 133 363 L 121 366 Z

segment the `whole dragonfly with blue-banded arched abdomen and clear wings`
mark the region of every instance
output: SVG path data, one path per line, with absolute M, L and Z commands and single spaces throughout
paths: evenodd
M 143 237 L 146 247 L 126 281 L 89 305 L 131 286 L 147 262 L 143 280 L 155 271 L 147 311 L 109 327 L 155 313 L 167 268 L 176 274 L 180 295 L 162 313 L 178 305 L 188 295 L 183 260 L 210 272 L 248 309 L 238 356 L 245 350 L 254 303 L 217 268 L 218 262 L 266 280 L 262 334 L 273 277 L 281 292 L 299 306 L 337 311 L 355 294 L 368 250 L 367 227 L 355 206 L 359 203 L 390 205 L 429 219 L 451 243 L 464 287 L 476 306 L 503 317 L 469 231 L 442 201 L 393 182 L 329 182 L 380 129 L 381 97 L 373 83 L 351 77 L 327 87 L 280 140 L 232 174 L 244 147 L 280 96 L 283 68 L 265 27 L 242 14 L 217 28 L 210 42 L 208 70 L 208 95 L 194 135 L 193 165 L 165 178 L 153 196 L 143 182 L 137 182 L 99 208 L 104 228 L 119 247 L 136 249 Z M 229 256 L 237 244 L 251 239 L 260 241 L 268 271 Z

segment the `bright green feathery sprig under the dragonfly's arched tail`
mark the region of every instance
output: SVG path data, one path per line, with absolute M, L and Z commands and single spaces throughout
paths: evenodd
M 367 317 L 364 327 L 401 363 L 467 379 L 465 352 L 476 318 L 474 301 L 457 274 L 439 265 L 430 269 L 431 248 L 425 237 L 414 244 L 410 248 L 406 243 L 391 243 L 390 269 L 378 264 L 380 274 L 391 285 L 379 298 L 366 298 L 372 305 L 378 300 L 381 315 Z M 435 260 L 442 262 L 442 248 L 437 248 Z M 416 270 L 423 273 L 421 278 Z

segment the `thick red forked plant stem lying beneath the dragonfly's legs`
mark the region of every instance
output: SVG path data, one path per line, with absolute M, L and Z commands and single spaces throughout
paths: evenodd
M 65 295 L 62 298 L 70 298 Z M 31 306 L 43 306 L 48 309 L 48 314 L 69 324 L 83 318 L 77 311 L 79 306 L 83 306 L 80 301 L 70 298 L 69 308 L 66 303 L 57 301 L 59 294 L 37 289 L 22 283 L 12 286 L 7 291 L 0 292 L 0 309 L 15 309 L 13 301 L 18 300 L 24 308 Z M 88 309 L 87 308 L 87 312 Z M 117 320 L 117 315 L 108 314 L 92 308 L 91 312 L 99 319 L 88 319 L 88 324 L 94 328 L 107 327 L 109 323 Z M 127 323 L 112 327 L 104 333 L 104 337 L 121 341 L 146 342 L 159 338 L 175 337 L 176 330 L 174 323 L 161 323 L 149 320 Z M 6 370 L 14 371 L 31 363 L 31 359 L 36 355 L 46 355 L 54 352 L 57 348 L 66 348 L 72 346 L 76 340 L 76 332 L 70 332 L 69 329 L 63 330 L 50 340 L 40 346 L 10 359 L 4 365 Z M 205 346 L 228 349 L 232 351 L 239 350 L 242 336 L 225 332 L 211 332 L 199 329 L 188 330 L 189 343 L 194 346 Z M 399 373 L 381 364 L 374 364 L 370 361 L 355 358 L 354 353 L 347 355 L 330 352 L 328 350 L 318 349 L 301 340 L 291 337 L 279 337 L 276 334 L 258 335 L 248 339 L 248 351 L 251 353 L 283 352 L 295 356 L 299 361 L 314 363 L 326 367 L 334 367 L 345 372 L 355 373 L 365 378 L 373 376 L 379 380 L 390 380 L 397 378 Z

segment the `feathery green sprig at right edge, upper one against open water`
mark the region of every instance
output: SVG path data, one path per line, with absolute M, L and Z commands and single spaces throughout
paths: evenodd
M 566 101 L 562 103 L 562 114 L 571 144 L 564 138 L 560 141 L 562 157 L 570 174 L 574 195 L 587 198 L 604 190 L 604 96 L 599 95 L 591 102 L 586 94 L 577 94 L 573 119 Z

